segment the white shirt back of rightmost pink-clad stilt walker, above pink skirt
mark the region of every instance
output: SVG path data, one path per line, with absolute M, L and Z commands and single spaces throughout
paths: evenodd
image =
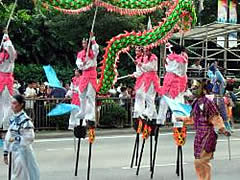
M 169 60 L 168 58 L 166 61 L 165 68 L 167 72 L 174 73 L 178 76 L 185 76 L 187 74 L 187 63 L 179 63 L 174 60 Z

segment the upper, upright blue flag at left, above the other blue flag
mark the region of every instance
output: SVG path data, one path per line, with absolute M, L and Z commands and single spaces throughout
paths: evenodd
M 63 88 L 61 86 L 60 81 L 57 78 L 56 72 L 54 71 L 54 69 L 52 68 L 51 65 L 43 66 L 43 69 L 44 69 L 45 74 L 47 76 L 47 80 L 48 80 L 49 86 L 57 87 L 57 88 Z

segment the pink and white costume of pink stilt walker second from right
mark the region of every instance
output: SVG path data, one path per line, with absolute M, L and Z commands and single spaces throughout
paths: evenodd
M 157 118 L 155 107 L 156 90 L 159 88 L 159 77 L 157 75 L 157 61 L 155 54 L 136 57 L 137 64 L 134 77 L 137 78 L 135 90 L 134 118 L 144 118 L 147 116 L 150 120 Z M 145 104 L 146 102 L 146 104 Z

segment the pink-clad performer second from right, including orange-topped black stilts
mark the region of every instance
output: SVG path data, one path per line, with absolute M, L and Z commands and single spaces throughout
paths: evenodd
M 152 171 L 152 136 L 155 132 L 157 111 L 155 106 L 156 90 L 159 88 L 159 77 L 157 75 L 157 61 L 158 58 L 153 54 L 150 49 L 143 49 L 143 57 L 141 49 L 137 49 L 136 52 L 136 72 L 133 74 L 137 78 L 135 90 L 135 104 L 133 117 L 137 122 L 143 122 L 143 144 L 139 157 L 139 163 L 137 168 L 137 175 L 141 164 L 143 149 L 145 140 L 151 138 L 150 143 L 150 170 Z M 140 128 L 138 128 L 140 131 Z M 138 133 L 138 132 L 137 132 Z M 136 139 L 137 140 L 137 139 Z M 157 142 L 157 140 L 156 140 Z

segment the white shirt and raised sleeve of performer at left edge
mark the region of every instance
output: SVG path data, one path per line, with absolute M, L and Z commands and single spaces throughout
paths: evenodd
M 13 73 L 14 61 L 16 59 L 16 50 L 10 40 L 3 43 L 3 48 L 8 52 L 9 58 L 0 64 L 0 71 L 5 73 Z

